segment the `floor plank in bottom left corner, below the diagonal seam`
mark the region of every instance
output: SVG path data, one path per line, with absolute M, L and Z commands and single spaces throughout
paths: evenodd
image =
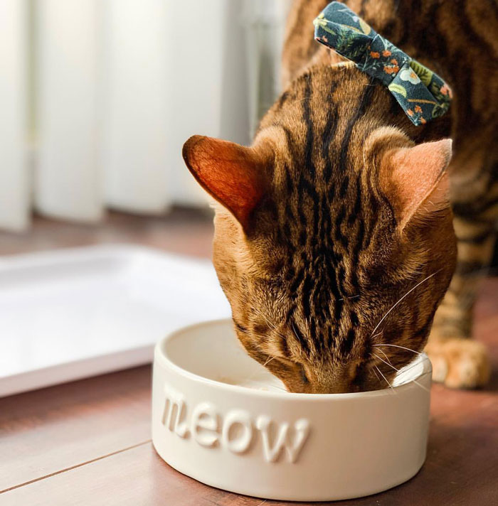
M 48 498 L 49 502 L 48 502 Z M 4 493 L 2 506 L 259 506 L 169 467 L 151 443 Z

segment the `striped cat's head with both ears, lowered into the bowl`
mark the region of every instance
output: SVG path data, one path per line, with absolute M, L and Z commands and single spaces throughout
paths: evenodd
M 415 144 L 392 102 L 355 69 L 315 68 L 253 146 L 184 145 L 216 200 L 213 261 L 238 338 L 292 392 L 387 387 L 452 276 L 451 141 Z

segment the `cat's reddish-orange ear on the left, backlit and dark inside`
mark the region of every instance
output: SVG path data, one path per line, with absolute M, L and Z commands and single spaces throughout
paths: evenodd
M 184 144 L 186 166 L 197 182 L 248 230 L 265 194 L 267 156 L 256 148 L 194 135 Z

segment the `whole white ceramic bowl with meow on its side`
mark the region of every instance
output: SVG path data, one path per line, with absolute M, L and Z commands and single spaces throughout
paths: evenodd
M 397 387 L 290 394 L 245 354 L 231 321 L 193 325 L 155 350 L 152 441 L 181 473 L 280 500 L 381 492 L 425 460 L 431 367 L 419 355 Z

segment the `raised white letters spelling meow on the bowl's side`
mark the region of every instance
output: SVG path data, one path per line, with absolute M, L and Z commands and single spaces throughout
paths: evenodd
M 222 446 L 232 453 L 243 454 L 260 436 L 263 458 L 277 462 L 280 456 L 297 461 L 309 434 L 309 421 L 300 419 L 292 426 L 276 423 L 260 414 L 253 419 L 248 411 L 233 409 L 221 415 L 210 402 L 201 402 L 190 411 L 183 394 L 168 385 L 164 387 L 164 409 L 161 423 L 181 438 L 193 438 L 206 448 Z

